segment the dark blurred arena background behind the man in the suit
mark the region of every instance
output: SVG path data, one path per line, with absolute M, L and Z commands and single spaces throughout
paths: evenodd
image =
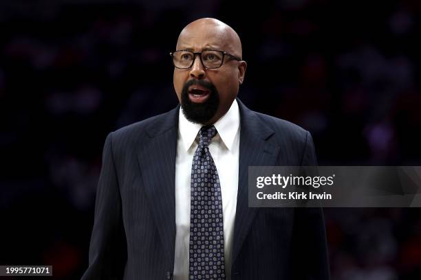
M 0 1 L 0 264 L 87 268 L 106 135 L 177 104 L 169 52 L 212 16 L 253 110 L 320 165 L 421 165 L 421 1 Z M 421 209 L 325 209 L 332 279 L 420 279 Z

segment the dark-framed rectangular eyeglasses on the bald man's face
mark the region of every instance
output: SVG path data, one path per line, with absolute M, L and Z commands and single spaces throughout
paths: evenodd
M 206 69 L 215 69 L 221 67 L 222 64 L 224 64 L 225 56 L 228 56 L 233 60 L 241 60 L 240 58 L 237 58 L 237 56 L 228 54 L 226 51 L 217 51 L 213 49 L 197 53 L 182 49 L 180 51 L 174 51 L 170 53 L 170 56 L 173 58 L 174 67 L 179 69 L 188 69 L 192 67 L 193 63 L 195 62 L 196 55 L 199 56 L 200 61 L 202 61 L 202 65 Z

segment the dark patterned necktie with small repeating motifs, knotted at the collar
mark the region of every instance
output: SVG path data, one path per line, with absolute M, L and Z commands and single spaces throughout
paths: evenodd
M 225 279 L 221 185 L 209 143 L 215 126 L 203 126 L 191 167 L 189 279 Z

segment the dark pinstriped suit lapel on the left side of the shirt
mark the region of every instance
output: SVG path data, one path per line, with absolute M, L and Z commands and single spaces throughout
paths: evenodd
M 140 143 L 138 161 L 151 213 L 171 264 L 175 250 L 175 156 L 180 106 L 157 117 Z

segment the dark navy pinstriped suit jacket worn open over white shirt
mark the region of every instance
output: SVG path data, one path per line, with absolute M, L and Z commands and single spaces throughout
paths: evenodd
M 316 165 L 310 133 L 237 101 L 232 279 L 329 279 L 321 209 L 248 207 L 248 166 Z M 179 107 L 108 135 L 83 280 L 172 279 L 178 113 Z

